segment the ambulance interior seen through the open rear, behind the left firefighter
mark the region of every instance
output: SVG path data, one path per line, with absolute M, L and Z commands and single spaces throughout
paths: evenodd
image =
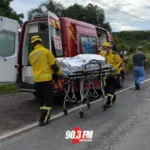
M 29 54 L 33 51 L 31 37 L 34 35 L 39 35 L 42 38 L 42 44 L 46 48 L 49 48 L 48 22 L 31 22 L 26 25 L 22 51 L 22 65 L 24 66 L 22 70 L 22 81 L 27 83 L 33 82 L 32 69 L 28 58 Z

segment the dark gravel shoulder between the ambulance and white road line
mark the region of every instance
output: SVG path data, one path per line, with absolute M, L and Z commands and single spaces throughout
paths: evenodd
M 148 71 L 150 76 L 150 71 Z M 124 87 L 133 84 L 132 75 L 126 76 Z M 52 113 L 62 111 L 62 98 L 56 99 Z M 72 106 L 71 106 L 72 107 Z M 14 93 L 0 95 L 0 134 L 38 121 L 39 105 L 32 93 Z

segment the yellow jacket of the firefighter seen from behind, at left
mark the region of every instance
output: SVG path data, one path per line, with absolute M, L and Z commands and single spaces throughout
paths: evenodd
M 50 50 L 42 45 L 36 45 L 29 55 L 29 62 L 32 65 L 34 82 L 44 82 L 52 80 L 53 70 L 51 66 L 56 60 Z M 61 69 L 57 74 L 62 74 Z

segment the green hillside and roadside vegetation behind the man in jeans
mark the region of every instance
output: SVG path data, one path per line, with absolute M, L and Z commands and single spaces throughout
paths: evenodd
M 132 72 L 132 56 L 139 45 L 143 46 L 148 62 L 145 68 L 150 68 L 150 31 L 121 31 L 112 33 L 119 51 L 127 51 L 129 62 L 126 65 L 126 73 Z

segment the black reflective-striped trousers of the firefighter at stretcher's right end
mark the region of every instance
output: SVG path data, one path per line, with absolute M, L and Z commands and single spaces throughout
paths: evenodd
M 106 105 L 112 104 L 116 99 L 115 91 L 119 82 L 119 75 L 110 75 L 104 78 L 105 94 L 107 95 Z

